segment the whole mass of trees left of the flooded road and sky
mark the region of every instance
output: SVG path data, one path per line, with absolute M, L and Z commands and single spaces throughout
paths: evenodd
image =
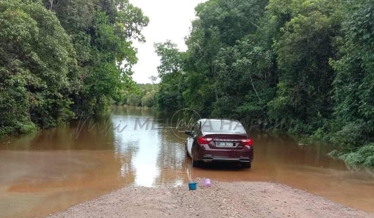
M 100 114 L 135 86 L 132 40 L 148 17 L 128 0 L 0 1 L 0 135 Z

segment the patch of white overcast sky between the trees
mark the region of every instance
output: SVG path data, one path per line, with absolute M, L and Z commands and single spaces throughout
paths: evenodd
M 137 83 L 150 83 L 150 76 L 157 76 L 160 58 L 154 52 L 153 43 L 170 39 L 182 51 L 187 49 L 185 36 L 189 34 L 194 8 L 205 0 L 130 0 L 149 17 L 149 24 L 142 31 L 145 43 L 134 42 L 139 59 L 132 70 Z

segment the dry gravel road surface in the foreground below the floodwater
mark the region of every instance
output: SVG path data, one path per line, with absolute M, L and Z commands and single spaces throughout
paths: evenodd
M 299 189 L 267 182 L 126 187 L 50 217 L 374 217 Z

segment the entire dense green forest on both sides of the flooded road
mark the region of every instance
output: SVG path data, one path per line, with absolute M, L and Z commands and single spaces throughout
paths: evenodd
M 156 43 L 161 82 L 137 85 L 132 41 L 149 19 L 128 0 L 0 1 L 0 135 L 111 103 L 189 107 L 374 166 L 374 0 L 209 0 L 195 12 L 187 51 Z

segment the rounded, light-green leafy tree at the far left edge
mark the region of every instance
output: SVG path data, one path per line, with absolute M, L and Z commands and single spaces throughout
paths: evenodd
M 54 13 L 36 2 L 0 3 L 2 133 L 27 133 L 74 117 L 68 98 L 75 51 Z

